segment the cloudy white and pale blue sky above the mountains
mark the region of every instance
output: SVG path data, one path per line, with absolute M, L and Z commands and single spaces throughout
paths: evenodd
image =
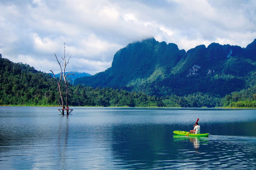
M 256 39 L 256 0 L 0 0 L 3 58 L 58 73 L 96 74 L 127 44 L 154 37 L 186 51 Z

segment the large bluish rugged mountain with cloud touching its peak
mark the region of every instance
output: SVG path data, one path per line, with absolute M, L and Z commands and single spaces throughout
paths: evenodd
M 74 85 L 123 88 L 148 95 L 184 96 L 203 92 L 224 97 L 255 85 L 256 39 L 241 48 L 211 43 L 180 50 L 154 38 L 134 42 L 117 51 L 112 66 Z

